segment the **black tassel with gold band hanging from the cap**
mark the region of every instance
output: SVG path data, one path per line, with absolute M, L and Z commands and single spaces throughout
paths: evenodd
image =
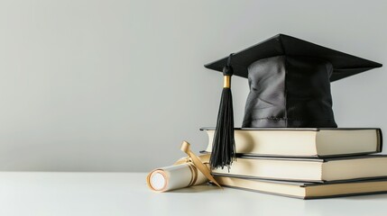
M 225 85 L 220 99 L 219 112 L 217 113 L 217 129 L 215 130 L 212 143 L 212 152 L 209 160 L 211 168 L 227 166 L 230 169 L 235 161 L 235 139 L 234 139 L 234 112 L 233 95 L 231 94 L 231 54 L 228 57 L 227 65 L 223 68 Z

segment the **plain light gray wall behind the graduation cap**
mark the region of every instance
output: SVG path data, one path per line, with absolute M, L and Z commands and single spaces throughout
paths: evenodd
M 385 1 L 0 1 L 0 170 L 149 171 L 198 151 L 222 76 L 286 33 L 387 64 Z M 387 130 L 385 67 L 332 84 L 341 127 Z M 233 79 L 235 126 L 247 81 Z

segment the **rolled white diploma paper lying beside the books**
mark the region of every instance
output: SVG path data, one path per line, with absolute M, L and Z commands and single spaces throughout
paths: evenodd
M 192 185 L 203 184 L 207 178 L 191 162 L 165 166 L 153 170 L 147 176 L 149 188 L 157 192 L 166 192 Z

